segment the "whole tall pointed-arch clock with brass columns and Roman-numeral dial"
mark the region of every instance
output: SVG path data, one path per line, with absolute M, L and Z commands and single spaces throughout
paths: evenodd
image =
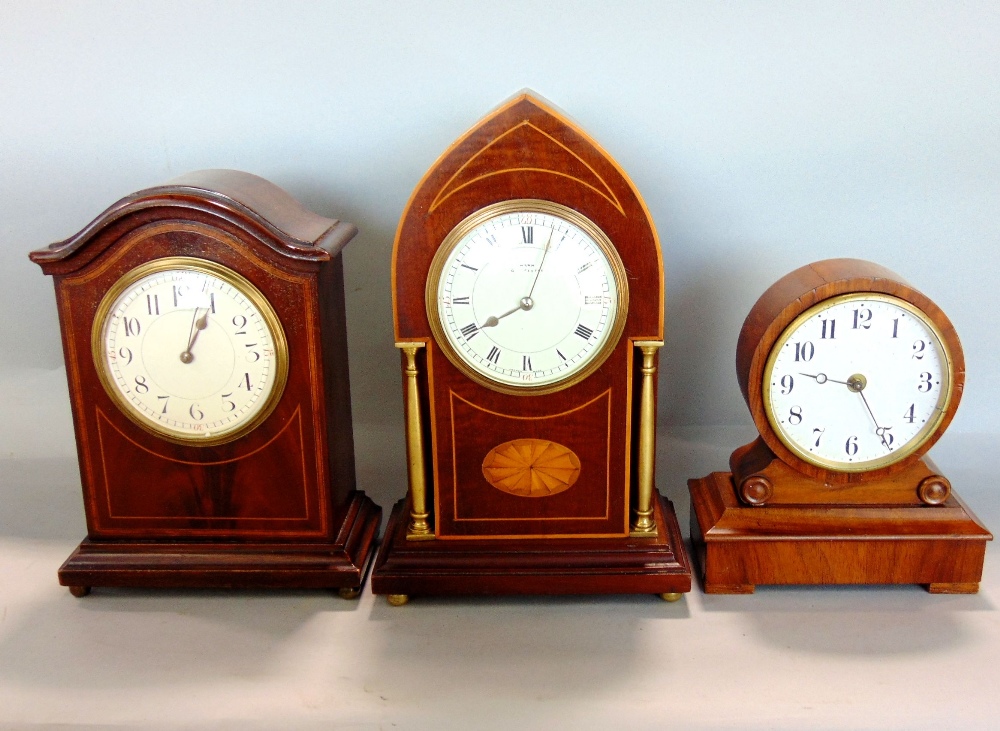
M 614 160 L 517 96 L 424 176 L 392 273 L 409 490 L 373 591 L 689 591 L 653 480 L 660 246 Z

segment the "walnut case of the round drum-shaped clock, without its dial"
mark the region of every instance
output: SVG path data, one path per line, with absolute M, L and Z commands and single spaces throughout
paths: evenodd
M 775 342 L 802 312 L 852 292 L 892 295 L 937 326 L 953 366 L 953 395 L 936 431 L 914 453 L 868 472 L 810 464 L 778 438 L 765 414 L 762 376 Z M 689 480 L 691 536 L 709 594 L 757 584 L 922 584 L 975 593 L 989 531 L 923 455 L 958 408 L 965 361 L 945 314 L 884 267 L 830 259 L 772 285 L 740 332 L 736 370 L 760 437 L 735 450 L 730 472 Z

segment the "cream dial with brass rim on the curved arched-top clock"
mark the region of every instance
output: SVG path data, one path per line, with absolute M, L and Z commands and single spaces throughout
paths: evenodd
M 214 262 L 158 259 L 123 276 L 94 322 L 105 389 L 139 426 L 170 441 L 231 441 L 271 412 L 288 371 L 274 310 Z

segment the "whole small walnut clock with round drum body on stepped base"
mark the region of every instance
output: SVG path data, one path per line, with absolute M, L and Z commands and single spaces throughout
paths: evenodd
M 978 590 L 992 536 L 924 456 L 965 386 L 939 307 L 877 264 L 816 262 L 754 305 L 736 371 L 760 436 L 733 452 L 730 472 L 688 482 L 707 592 Z

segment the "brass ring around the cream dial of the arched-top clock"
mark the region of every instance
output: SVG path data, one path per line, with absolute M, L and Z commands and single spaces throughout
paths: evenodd
M 115 386 L 114 377 L 110 373 L 110 366 L 108 365 L 107 360 L 103 357 L 105 352 L 105 336 L 107 334 L 107 326 L 109 323 L 108 315 L 121 295 L 140 279 L 150 276 L 151 274 L 158 274 L 160 272 L 170 270 L 195 271 L 208 274 L 221 279 L 223 282 L 239 291 L 260 312 L 266 326 L 271 331 L 271 339 L 274 342 L 274 385 L 272 386 L 271 392 L 268 394 L 264 405 L 248 421 L 234 427 L 232 430 L 224 431 L 210 437 L 178 434 L 170 429 L 164 428 L 158 422 L 147 418 L 142 413 L 137 411 L 132 403 L 125 398 L 125 395 L 122 394 L 122 392 Z M 101 380 L 101 385 L 104 386 L 104 390 L 108 393 L 111 400 L 114 401 L 119 410 L 144 431 L 152 434 L 153 436 L 159 437 L 160 439 L 173 442 L 174 444 L 209 447 L 226 444 L 227 442 L 239 439 L 253 429 L 257 428 L 265 419 L 267 419 L 268 416 L 271 415 L 271 412 L 274 411 L 275 406 L 277 406 L 278 401 L 281 398 L 281 394 L 285 390 L 285 383 L 288 380 L 288 341 L 285 339 L 285 331 L 281 327 L 281 321 L 278 319 L 278 315 L 275 313 L 271 303 L 268 302 L 263 293 L 261 293 L 257 287 L 246 279 L 246 277 L 237 274 L 232 269 L 229 269 L 222 264 L 218 264 L 214 261 L 208 261 L 206 259 L 197 259 L 188 256 L 171 256 L 163 259 L 154 259 L 153 261 L 141 264 L 122 275 L 122 277 L 111 286 L 107 293 L 105 293 L 97 307 L 97 311 L 94 315 L 94 324 L 91 329 L 90 347 L 91 354 L 94 359 L 94 366 L 97 369 L 97 375 Z

